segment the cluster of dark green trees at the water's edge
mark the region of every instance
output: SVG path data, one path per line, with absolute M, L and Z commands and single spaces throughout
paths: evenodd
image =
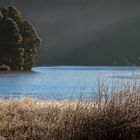
M 14 6 L 0 6 L 0 65 L 31 70 L 40 46 L 34 26 Z

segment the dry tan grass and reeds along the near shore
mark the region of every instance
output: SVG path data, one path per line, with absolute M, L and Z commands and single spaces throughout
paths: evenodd
M 139 140 L 140 89 L 124 89 L 94 101 L 0 100 L 5 140 Z

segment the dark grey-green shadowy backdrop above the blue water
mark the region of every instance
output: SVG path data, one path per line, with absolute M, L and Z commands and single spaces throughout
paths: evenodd
M 0 0 L 14 4 L 42 38 L 39 65 L 140 64 L 137 0 Z

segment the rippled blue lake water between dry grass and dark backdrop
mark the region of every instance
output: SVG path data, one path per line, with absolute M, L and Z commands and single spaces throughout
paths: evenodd
M 139 81 L 139 67 L 34 67 L 31 72 L 0 72 L 0 97 L 77 99 L 92 96 L 99 86 L 123 88 Z

